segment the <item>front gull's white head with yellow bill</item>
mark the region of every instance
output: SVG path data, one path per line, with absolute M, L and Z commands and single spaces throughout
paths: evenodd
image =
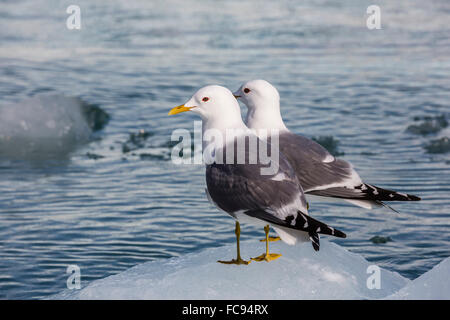
M 225 87 L 211 85 L 198 90 L 189 101 L 170 110 L 169 115 L 191 111 L 200 115 L 206 123 L 233 127 L 243 124 L 239 103 Z

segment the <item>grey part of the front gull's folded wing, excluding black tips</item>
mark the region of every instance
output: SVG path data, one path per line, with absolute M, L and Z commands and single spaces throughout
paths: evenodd
M 290 214 L 296 215 L 298 210 L 307 213 L 303 190 L 284 157 L 280 155 L 278 172 L 273 175 L 261 174 L 263 167 L 265 165 L 260 163 L 207 165 L 209 196 L 220 209 L 231 215 L 263 210 L 284 220 Z

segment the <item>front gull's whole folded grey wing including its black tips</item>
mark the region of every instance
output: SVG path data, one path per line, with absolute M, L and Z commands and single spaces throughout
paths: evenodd
M 224 159 L 225 154 L 226 150 Z M 208 196 L 217 207 L 235 217 L 237 213 L 244 213 L 278 226 L 305 231 L 313 240 L 318 239 L 316 233 L 345 237 L 343 232 L 308 216 L 302 187 L 282 154 L 274 175 L 262 175 L 262 167 L 259 163 L 207 165 Z

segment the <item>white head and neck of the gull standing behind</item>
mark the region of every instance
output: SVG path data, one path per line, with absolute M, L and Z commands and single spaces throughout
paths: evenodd
M 233 95 L 247 106 L 250 129 L 287 130 L 280 113 L 280 94 L 266 80 L 247 81 Z

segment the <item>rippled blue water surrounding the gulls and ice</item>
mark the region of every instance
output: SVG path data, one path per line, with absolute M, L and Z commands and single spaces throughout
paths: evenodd
M 450 155 L 424 149 L 449 129 L 405 131 L 415 116 L 450 112 L 448 1 L 378 1 L 381 30 L 366 27 L 371 1 L 79 0 L 81 30 L 66 28 L 70 4 L 0 6 L 1 104 L 52 92 L 111 116 L 61 159 L 0 159 L 0 298 L 57 293 L 70 264 L 85 285 L 232 243 L 203 166 L 167 157 L 172 131 L 198 119 L 167 112 L 203 85 L 254 78 L 279 89 L 291 130 L 333 136 L 364 180 L 423 198 L 394 204 L 398 214 L 312 203 L 348 235 L 333 241 L 411 279 L 450 256 Z M 123 153 L 139 130 L 151 133 L 144 147 Z M 262 233 L 246 226 L 242 237 Z

